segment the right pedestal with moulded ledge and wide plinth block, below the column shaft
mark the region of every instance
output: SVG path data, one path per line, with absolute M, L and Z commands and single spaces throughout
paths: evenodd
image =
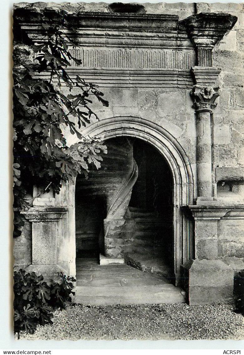
M 188 302 L 191 305 L 232 302 L 234 271 L 242 268 L 243 263 L 237 258 L 219 258 L 218 223 L 223 219 L 243 219 L 244 208 L 212 206 L 211 202 L 188 208 L 195 221 L 195 260 L 188 260 L 182 267 Z

